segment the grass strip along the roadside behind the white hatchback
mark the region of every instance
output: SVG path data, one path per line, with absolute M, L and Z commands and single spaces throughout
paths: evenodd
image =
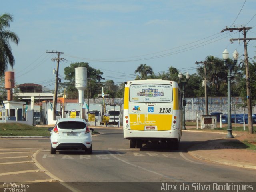
M 48 128 L 22 123 L 0 123 L 0 136 L 50 136 Z M 100 133 L 94 131 L 92 134 Z

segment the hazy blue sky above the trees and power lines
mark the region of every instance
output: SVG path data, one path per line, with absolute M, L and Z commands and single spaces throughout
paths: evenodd
M 140 64 L 155 74 L 172 66 L 196 73 L 195 62 L 209 55 L 222 58 L 227 48 L 244 59 L 242 32 L 227 27 L 252 27 L 256 38 L 255 0 L 0 0 L 0 14 L 14 17 L 11 43 L 16 84 L 35 83 L 54 89 L 57 54 L 63 52 L 59 76 L 75 62 L 88 62 L 105 80 L 120 84 L 134 80 Z M 256 40 L 248 43 L 248 57 L 256 56 Z M 252 60 L 250 60 L 252 61 Z M 8 70 L 12 70 L 10 67 Z M 103 80 L 104 82 L 104 80 Z

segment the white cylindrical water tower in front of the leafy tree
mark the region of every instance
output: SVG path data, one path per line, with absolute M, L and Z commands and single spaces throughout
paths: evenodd
M 76 88 L 78 90 L 78 103 L 84 103 L 84 90 L 87 85 L 87 68 L 86 67 L 77 67 L 75 68 L 76 72 Z

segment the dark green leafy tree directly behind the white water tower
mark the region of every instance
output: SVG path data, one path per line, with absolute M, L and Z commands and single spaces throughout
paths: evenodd
M 101 93 L 102 83 L 101 80 L 103 72 L 94 69 L 89 66 L 88 63 L 71 63 L 69 67 L 64 68 L 65 80 L 67 82 L 61 83 L 61 88 L 66 89 L 66 94 L 68 98 L 77 98 L 77 89 L 75 88 L 75 68 L 76 67 L 86 67 L 87 68 L 87 87 L 85 90 L 86 98 L 96 98 L 99 93 Z

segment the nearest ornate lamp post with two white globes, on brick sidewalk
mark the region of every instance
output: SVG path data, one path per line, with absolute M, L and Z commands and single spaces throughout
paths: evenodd
M 234 138 L 234 136 L 232 135 L 232 124 L 231 124 L 231 90 L 230 90 L 231 83 L 230 81 L 231 81 L 231 73 L 234 66 L 237 63 L 239 54 L 237 50 L 234 51 L 233 53 L 234 63 L 227 63 L 228 56 L 229 56 L 228 50 L 225 49 L 224 52 L 222 53 L 222 57 L 224 60 L 224 65 L 228 67 L 228 129 L 227 129 L 228 134 L 226 135 L 226 138 Z

